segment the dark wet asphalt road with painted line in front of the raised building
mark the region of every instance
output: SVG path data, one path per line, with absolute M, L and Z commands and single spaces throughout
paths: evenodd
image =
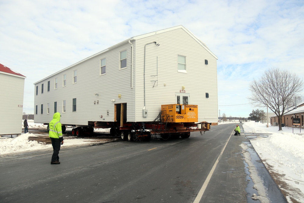
M 234 127 L 65 149 L 60 165 L 50 165 L 50 151 L 3 157 L 0 202 L 247 202 L 239 146 L 247 139 L 230 137 Z

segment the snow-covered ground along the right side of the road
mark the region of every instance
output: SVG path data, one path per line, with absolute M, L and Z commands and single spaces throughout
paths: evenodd
M 267 128 L 266 123 L 254 121 L 243 123 L 243 128 L 245 133 L 260 134 L 250 142 L 272 175 L 282 181 L 278 186 L 287 201 L 304 202 L 304 129 L 301 133 L 299 128 L 292 133 L 291 127 L 278 131 L 278 126 Z

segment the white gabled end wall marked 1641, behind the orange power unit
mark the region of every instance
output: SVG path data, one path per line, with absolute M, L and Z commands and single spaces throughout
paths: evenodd
M 146 48 L 146 109 L 148 117 L 142 117 L 143 108 L 143 47 Z M 187 57 L 187 73 L 178 72 L 177 55 Z M 150 75 L 156 75 L 157 58 L 157 86 Z M 205 59 L 208 65 L 205 65 Z M 166 83 L 166 86 L 164 86 Z M 166 33 L 156 34 L 136 43 L 136 121 L 153 121 L 161 104 L 175 103 L 175 93 L 179 93 L 181 86 L 185 86 L 190 94 L 190 104 L 199 105 L 199 121 L 217 122 L 217 76 L 216 58 L 204 47 L 178 29 Z M 206 94 L 209 93 L 209 98 Z M 138 107 L 138 108 L 137 108 Z

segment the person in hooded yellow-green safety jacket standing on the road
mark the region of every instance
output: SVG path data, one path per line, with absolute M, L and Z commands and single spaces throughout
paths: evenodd
M 53 116 L 53 120 L 49 124 L 49 137 L 52 141 L 53 155 L 51 159 L 51 164 L 60 164 L 59 162 L 59 150 L 60 145 L 63 145 L 62 128 L 60 123 L 60 113 L 57 112 Z

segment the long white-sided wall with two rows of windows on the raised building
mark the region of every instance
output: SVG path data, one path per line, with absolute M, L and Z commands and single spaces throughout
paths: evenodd
M 127 49 L 127 68 L 119 70 L 119 51 Z M 57 101 L 57 112 L 60 112 L 63 124 L 87 125 L 88 121 L 113 121 L 114 103 L 127 103 L 127 115 L 134 115 L 134 89 L 131 89 L 131 45 L 110 50 L 76 66 L 73 66 L 38 85 L 35 89 L 35 105 L 38 112 L 35 122 L 48 123 L 54 114 L 54 102 Z M 106 58 L 106 74 L 99 75 L 100 59 Z M 77 83 L 73 84 L 73 71 L 77 69 Z M 67 74 L 67 84 L 62 86 L 63 75 Z M 58 78 L 58 89 L 54 89 L 54 79 Z M 50 92 L 47 92 L 47 81 L 50 81 Z M 41 84 L 44 92 L 41 94 Z M 98 96 L 95 93 L 99 94 Z M 118 98 L 121 94 L 122 98 Z M 76 98 L 76 112 L 72 112 L 72 100 Z M 115 99 L 116 102 L 111 100 Z M 62 101 L 66 100 L 66 113 L 62 112 Z M 98 104 L 97 104 L 98 100 Z M 94 104 L 95 101 L 95 104 Z M 41 115 L 41 104 L 43 114 Z M 50 103 L 50 114 L 47 114 L 47 103 Z M 109 110 L 109 116 L 107 116 Z M 100 116 L 102 115 L 102 118 Z M 133 116 L 134 117 L 134 116 Z M 103 120 L 104 119 L 104 120 Z M 132 121 L 132 116 L 128 121 Z

